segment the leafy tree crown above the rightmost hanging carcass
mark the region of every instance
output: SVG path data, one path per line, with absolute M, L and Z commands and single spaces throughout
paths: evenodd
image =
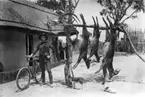
M 145 12 L 144 0 L 97 0 L 97 2 L 104 7 L 100 15 L 108 16 L 114 23 L 124 23 L 129 18 L 137 18 L 135 13 Z M 133 12 L 125 18 L 129 9 Z

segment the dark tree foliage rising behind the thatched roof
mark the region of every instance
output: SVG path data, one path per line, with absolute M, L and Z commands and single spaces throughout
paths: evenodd
M 74 1 L 74 2 L 72 2 Z M 71 23 L 76 21 L 78 23 L 79 18 L 74 14 L 74 10 L 77 7 L 80 0 L 37 0 L 38 5 L 53 9 L 59 15 L 59 22 L 65 23 L 70 22 L 68 16 L 71 16 Z

